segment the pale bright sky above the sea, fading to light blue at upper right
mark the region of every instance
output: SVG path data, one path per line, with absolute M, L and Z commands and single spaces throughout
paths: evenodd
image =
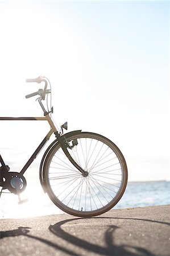
M 24 97 L 41 87 L 25 80 L 46 76 L 57 126 L 108 137 L 129 181 L 170 179 L 168 1 L 0 1 L 0 35 L 1 117 L 42 116 L 36 97 Z M 49 130 L 42 121 L 0 127 L 11 171 Z

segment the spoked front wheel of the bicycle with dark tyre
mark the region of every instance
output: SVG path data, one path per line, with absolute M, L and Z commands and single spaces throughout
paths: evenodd
M 119 148 L 95 133 L 65 135 L 69 154 L 88 172 L 83 176 L 65 156 L 60 143 L 44 163 L 44 182 L 50 199 L 64 212 L 92 217 L 114 207 L 125 192 L 127 166 Z

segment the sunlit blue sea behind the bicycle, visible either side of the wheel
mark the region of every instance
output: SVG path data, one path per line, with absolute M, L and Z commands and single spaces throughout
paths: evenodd
M 22 195 L 23 194 L 23 195 Z M 23 192 L 22 199 L 28 201 L 18 205 L 18 197 L 2 193 L 0 198 L 0 218 L 26 218 L 51 214 L 64 214 L 54 205 L 41 187 L 36 185 Z M 113 209 L 151 207 L 170 204 L 170 181 L 128 182 L 122 199 Z

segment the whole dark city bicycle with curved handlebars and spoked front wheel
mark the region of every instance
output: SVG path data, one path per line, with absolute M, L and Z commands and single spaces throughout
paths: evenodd
M 127 165 L 122 152 L 109 139 L 96 133 L 76 130 L 64 134 L 67 122 L 58 131 L 51 118 L 53 107 L 48 108 L 49 80 L 39 76 L 26 82 L 45 83 L 44 89 L 26 96 L 38 95 L 44 117 L 0 117 L 0 120 L 43 120 L 49 123 L 50 130 L 20 172 L 10 171 L 0 155 L 2 190 L 8 189 L 18 195 L 19 204 L 24 203 L 25 200 L 20 199 L 27 185 L 24 172 L 55 134 L 55 141 L 48 146 L 40 162 L 39 178 L 44 193 L 57 207 L 74 216 L 92 217 L 107 212 L 118 203 L 126 189 Z M 48 84 L 50 89 L 47 89 Z M 45 99 L 47 110 L 42 102 Z

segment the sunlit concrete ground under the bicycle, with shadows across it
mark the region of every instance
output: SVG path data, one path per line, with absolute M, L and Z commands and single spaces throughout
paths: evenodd
M 170 255 L 170 205 L 1 219 L 0 255 Z

